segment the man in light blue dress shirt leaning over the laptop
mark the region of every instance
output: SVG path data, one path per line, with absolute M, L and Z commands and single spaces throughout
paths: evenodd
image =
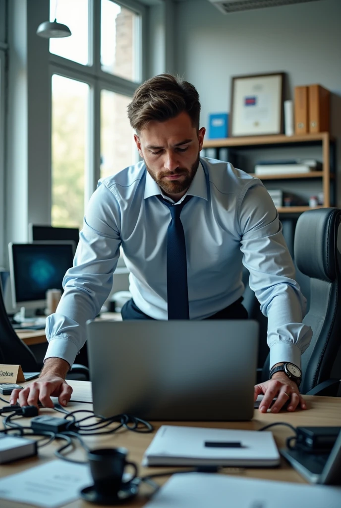
M 123 248 L 132 300 L 123 319 L 167 319 L 166 249 L 169 206 L 179 206 L 186 240 L 190 319 L 243 319 L 243 264 L 250 287 L 268 317 L 270 367 L 287 362 L 299 372 L 312 331 L 302 324 L 305 299 L 282 236 L 277 210 L 257 178 L 226 162 L 200 158 L 196 89 L 171 75 L 156 76 L 134 93 L 128 116 L 143 161 L 99 181 L 88 204 L 74 266 L 64 278 L 57 312 L 47 318 L 49 341 L 40 378 L 15 390 L 11 401 L 66 405 L 72 388 L 65 375 L 85 342 L 85 323 L 99 312 L 111 289 Z M 161 198 L 161 199 L 160 199 Z M 187 198 L 188 200 L 189 198 Z M 235 338 L 238 340 L 238 337 Z M 284 367 L 283 367 L 284 368 Z M 288 377 L 289 375 L 289 377 Z M 260 411 L 305 408 L 290 373 L 276 372 L 255 387 Z

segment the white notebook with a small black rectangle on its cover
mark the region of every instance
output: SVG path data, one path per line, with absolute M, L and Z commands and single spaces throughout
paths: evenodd
M 142 464 L 273 467 L 279 463 L 271 432 L 162 425 Z

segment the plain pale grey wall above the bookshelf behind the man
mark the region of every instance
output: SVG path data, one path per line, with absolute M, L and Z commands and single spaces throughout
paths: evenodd
M 293 87 L 320 83 L 333 92 L 341 206 L 341 1 L 224 15 L 207 0 L 176 4 L 176 69 L 198 89 L 201 125 L 209 113 L 229 111 L 231 76 L 285 71 Z

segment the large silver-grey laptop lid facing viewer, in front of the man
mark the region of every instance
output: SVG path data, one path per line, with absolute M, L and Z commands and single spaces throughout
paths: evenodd
M 253 417 L 256 321 L 89 321 L 87 347 L 97 415 Z

